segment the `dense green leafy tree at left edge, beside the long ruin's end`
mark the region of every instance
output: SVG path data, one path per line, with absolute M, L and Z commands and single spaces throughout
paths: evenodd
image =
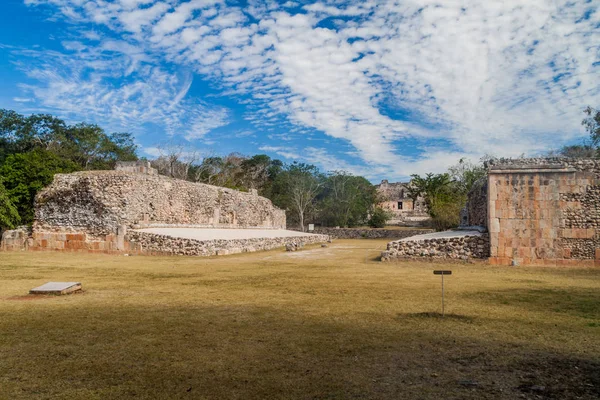
M 56 173 L 78 170 L 78 166 L 43 149 L 9 155 L 0 166 L 0 176 L 9 200 L 16 206 L 21 222 L 33 221 L 35 195 L 49 185 Z

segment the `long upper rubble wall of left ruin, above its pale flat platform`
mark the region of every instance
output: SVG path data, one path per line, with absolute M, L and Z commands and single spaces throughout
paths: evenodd
M 120 226 L 285 229 L 285 211 L 256 193 L 128 171 L 57 174 L 36 198 L 34 232 L 116 235 Z

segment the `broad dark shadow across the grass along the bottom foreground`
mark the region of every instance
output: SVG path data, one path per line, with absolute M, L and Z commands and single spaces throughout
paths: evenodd
M 0 376 L 14 399 L 600 396 L 596 361 L 440 330 L 439 313 L 398 317 L 401 327 L 231 304 L 19 309 L 0 320 Z

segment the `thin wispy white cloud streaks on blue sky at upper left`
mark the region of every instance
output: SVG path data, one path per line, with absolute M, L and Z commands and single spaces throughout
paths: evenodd
M 189 140 L 229 122 L 229 110 L 187 98 L 190 73 L 155 66 L 129 43 L 104 41 L 97 48 L 72 43 L 70 48 L 74 52 L 68 55 L 21 52 L 28 59 L 21 68 L 37 81 L 21 87 L 41 111 L 111 130 L 141 132 L 143 124 L 154 124 Z

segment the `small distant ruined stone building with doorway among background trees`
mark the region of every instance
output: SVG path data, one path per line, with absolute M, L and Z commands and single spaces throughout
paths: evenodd
M 419 226 L 429 221 L 423 198 L 419 197 L 415 202 L 408 196 L 408 183 L 383 180 L 376 187 L 382 199 L 378 206 L 393 215 L 389 225 Z

